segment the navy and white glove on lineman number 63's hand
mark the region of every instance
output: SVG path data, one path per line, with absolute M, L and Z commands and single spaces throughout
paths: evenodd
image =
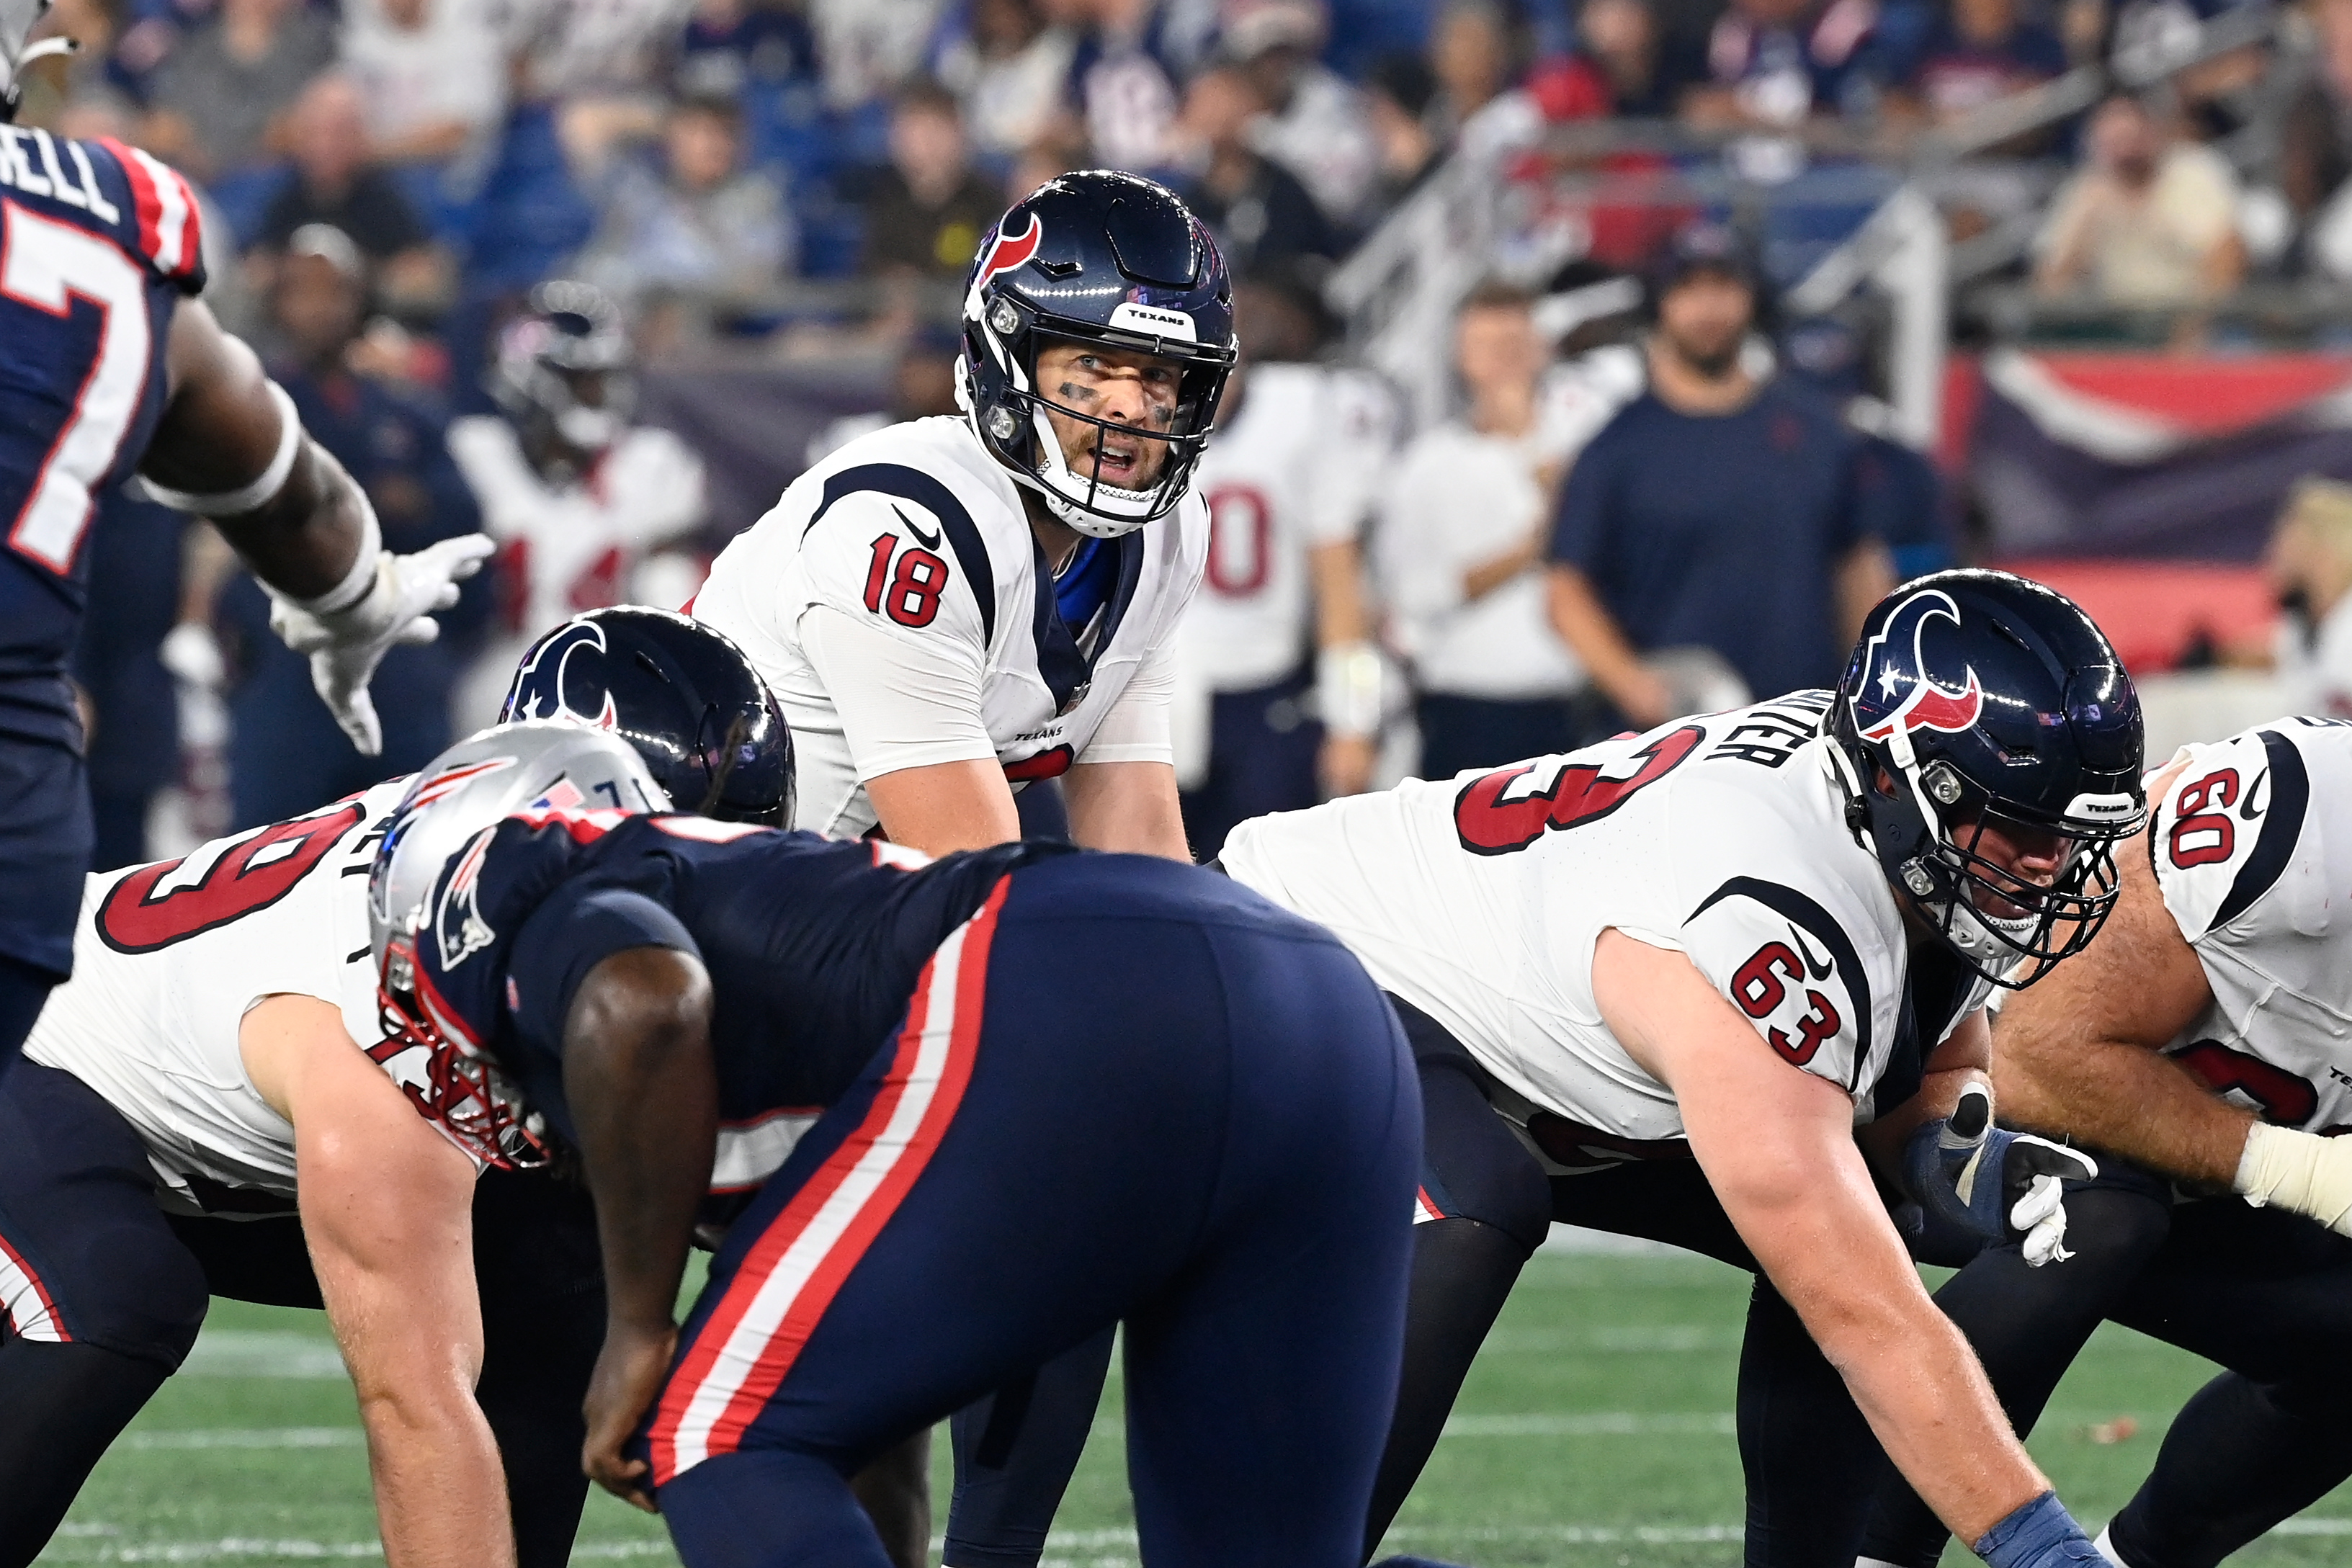
M 1943 1121 L 1903 1145 L 1905 1213 L 1924 1251 L 1947 1255 L 2020 1241 L 2025 1262 L 2065 1262 L 2065 1182 L 2098 1175 L 2098 1161 L 2032 1133 L 1992 1126 L 1992 1091 L 1969 1084 Z

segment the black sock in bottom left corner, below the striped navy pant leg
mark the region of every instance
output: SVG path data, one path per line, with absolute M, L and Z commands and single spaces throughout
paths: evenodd
M 169 1368 L 96 1345 L 0 1342 L 0 1568 L 24 1568 Z

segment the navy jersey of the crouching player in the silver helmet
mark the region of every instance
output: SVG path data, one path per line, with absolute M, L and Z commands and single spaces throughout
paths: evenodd
M 419 990 L 572 1140 L 564 1016 L 588 971 L 626 947 L 696 954 L 720 1079 L 713 1187 L 741 1190 L 856 1081 L 922 966 L 995 884 L 1061 853 L 1021 842 L 927 863 L 699 816 L 529 811 L 442 872 Z

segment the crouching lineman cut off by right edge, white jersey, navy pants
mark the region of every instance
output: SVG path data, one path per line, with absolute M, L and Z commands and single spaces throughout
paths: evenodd
M 2002 1117 L 2110 1166 L 2067 1199 L 2082 1258 L 2030 1274 L 1994 1248 L 1936 1302 L 2018 1432 L 2103 1316 L 2230 1368 L 2098 1542 L 2124 1568 L 2211 1568 L 2352 1474 L 2352 964 L 2333 917 L 2352 726 L 2190 745 L 2147 792 L 2114 917 L 1992 1030 Z M 1926 1568 L 1940 1549 L 1891 1481 L 1865 1559 Z

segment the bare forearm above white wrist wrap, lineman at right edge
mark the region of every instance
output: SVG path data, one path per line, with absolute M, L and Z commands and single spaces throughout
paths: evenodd
M 2013 1126 L 2213 1187 L 2237 1175 L 2256 1121 L 2171 1058 L 2103 1039 L 2034 1039 L 2004 1030 L 1992 1091 L 2002 1119 Z

